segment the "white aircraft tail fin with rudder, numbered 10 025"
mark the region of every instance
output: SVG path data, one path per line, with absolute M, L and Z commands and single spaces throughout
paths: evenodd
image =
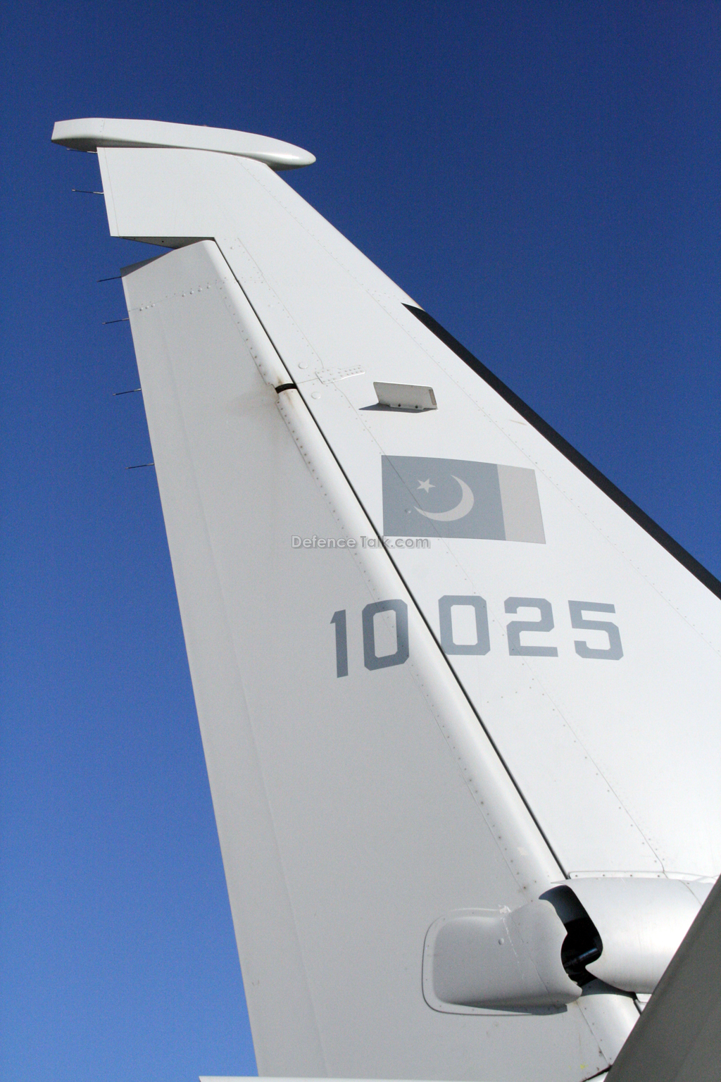
M 93 131 L 261 1074 L 598 1076 L 721 867 L 719 598 L 277 161 Z

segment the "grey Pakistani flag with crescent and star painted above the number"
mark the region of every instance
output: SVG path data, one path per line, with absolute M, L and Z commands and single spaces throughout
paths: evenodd
M 382 472 L 386 537 L 546 543 L 533 470 L 384 454 Z

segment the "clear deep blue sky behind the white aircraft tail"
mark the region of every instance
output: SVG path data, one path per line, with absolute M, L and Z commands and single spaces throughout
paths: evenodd
M 253 1073 L 94 156 L 146 117 L 290 183 L 716 575 L 718 2 L 10 3 L 2 101 L 1 1073 Z M 288 175 L 288 174 L 286 174 Z

